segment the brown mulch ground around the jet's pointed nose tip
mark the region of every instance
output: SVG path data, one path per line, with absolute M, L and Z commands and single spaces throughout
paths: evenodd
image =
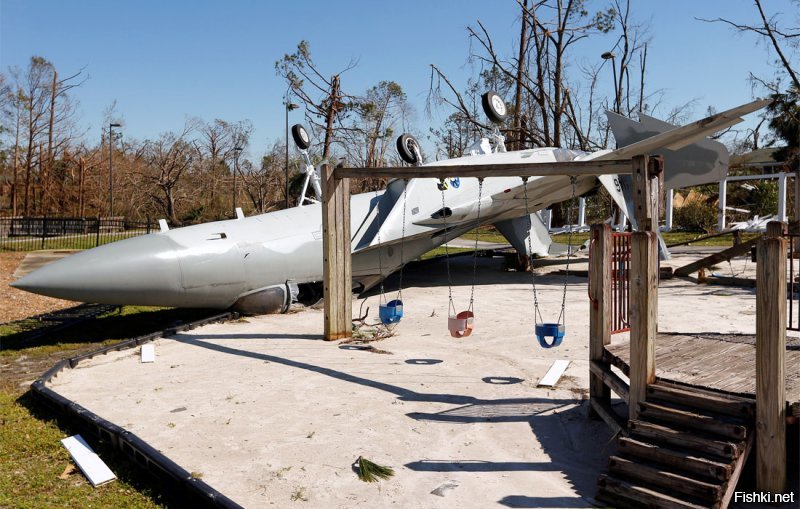
M 9 286 L 27 253 L 0 253 L 0 324 L 76 306 L 77 302 L 35 295 Z

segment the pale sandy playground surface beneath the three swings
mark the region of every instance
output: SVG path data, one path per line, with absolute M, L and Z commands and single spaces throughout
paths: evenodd
M 372 343 L 386 353 L 322 341 L 322 312 L 306 310 L 159 339 L 154 363 L 139 349 L 110 353 L 49 387 L 246 507 L 591 506 L 613 445 L 586 418 L 586 279 L 569 279 L 567 337 L 546 350 L 532 333 L 530 275 L 500 264 L 479 259 L 468 338 L 448 334 L 444 266 L 430 264 L 406 274 L 405 317 Z M 460 311 L 472 262 L 454 265 Z M 558 316 L 563 282 L 540 278 L 545 319 Z M 752 290 L 717 292 L 665 282 L 660 329 L 752 332 Z M 375 321 L 378 298 L 367 305 Z M 698 310 L 705 319 L 687 323 Z M 556 359 L 572 361 L 556 388 L 537 387 Z M 359 456 L 395 476 L 360 481 Z

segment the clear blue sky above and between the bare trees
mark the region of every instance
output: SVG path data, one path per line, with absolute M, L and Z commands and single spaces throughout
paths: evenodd
M 789 26 L 797 19 L 789 0 L 767 6 L 786 13 Z M 662 113 L 691 100 L 693 118 L 711 105 L 738 105 L 752 97 L 748 72 L 774 74 L 755 38 L 694 19 L 752 21 L 748 0 L 635 2 L 633 10 L 651 26 L 649 88 L 664 90 Z M 327 74 L 358 60 L 342 77 L 347 91 L 398 82 L 417 111 L 418 129 L 427 132 L 440 120 L 424 111 L 429 64 L 465 84 L 472 73 L 466 26 L 480 19 L 500 51 L 512 54 L 517 17 L 513 0 L 0 0 L 0 70 L 24 68 L 32 55 L 53 62 L 61 75 L 85 68 L 89 79 L 73 95 L 90 138 L 99 139 L 103 111 L 116 101 L 126 138 L 178 130 L 188 117 L 249 119 L 249 152 L 258 157 L 283 138 L 286 83 L 274 63 L 301 39 Z M 599 61 L 613 44 L 593 41 L 579 47 L 571 65 Z M 610 91 L 610 69 L 605 74 L 600 87 Z M 290 116 L 290 123 L 301 120 L 300 113 Z

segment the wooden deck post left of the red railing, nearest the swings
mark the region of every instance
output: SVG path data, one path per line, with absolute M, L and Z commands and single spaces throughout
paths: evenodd
M 592 225 L 589 245 L 589 362 L 603 366 L 605 346 L 611 343 L 611 225 Z M 610 370 L 610 367 L 609 367 Z M 627 394 L 626 394 L 627 396 Z M 592 371 L 589 399 L 610 404 L 611 393 L 603 378 Z M 594 407 L 590 405 L 590 413 Z

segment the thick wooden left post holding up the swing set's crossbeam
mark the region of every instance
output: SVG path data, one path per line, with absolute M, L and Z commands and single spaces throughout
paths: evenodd
M 350 257 L 350 181 L 334 178 L 322 166 L 322 286 L 326 341 L 349 337 L 352 330 Z

